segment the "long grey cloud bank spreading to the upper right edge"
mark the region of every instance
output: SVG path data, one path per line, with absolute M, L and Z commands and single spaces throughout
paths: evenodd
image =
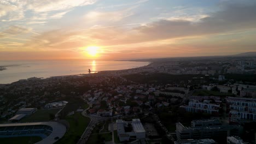
M 250 1 L 251 2 L 251 1 Z M 123 43 L 139 43 L 159 39 L 211 35 L 256 28 L 256 3 L 223 3 L 223 10 L 208 14 L 199 22 L 185 20 L 160 20 L 135 28 L 136 35 L 129 35 Z

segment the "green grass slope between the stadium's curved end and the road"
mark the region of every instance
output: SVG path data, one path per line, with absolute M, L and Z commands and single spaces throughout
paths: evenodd
M 67 116 L 66 121 L 69 123 L 69 129 L 66 134 L 56 143 L 77 143 L 80 139 L 84 130 L 90 122 L 90 118 L 84 117 L 81 113 L 77 112 L 74 115 Z

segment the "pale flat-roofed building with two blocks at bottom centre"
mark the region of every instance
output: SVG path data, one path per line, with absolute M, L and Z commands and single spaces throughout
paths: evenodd
M 129 124 L 131 124 L 132 130 L 125 131 L 125 127 L 129 127 Z M 116 125 L 118 137 L 121 142 L 129 141 L 131 136 L 136 137 L 136 139 L 146 138 L 146 130 L 139 119 L 132 119 L 131 122 L 125 122 L 122 119 L 117 119 Z

